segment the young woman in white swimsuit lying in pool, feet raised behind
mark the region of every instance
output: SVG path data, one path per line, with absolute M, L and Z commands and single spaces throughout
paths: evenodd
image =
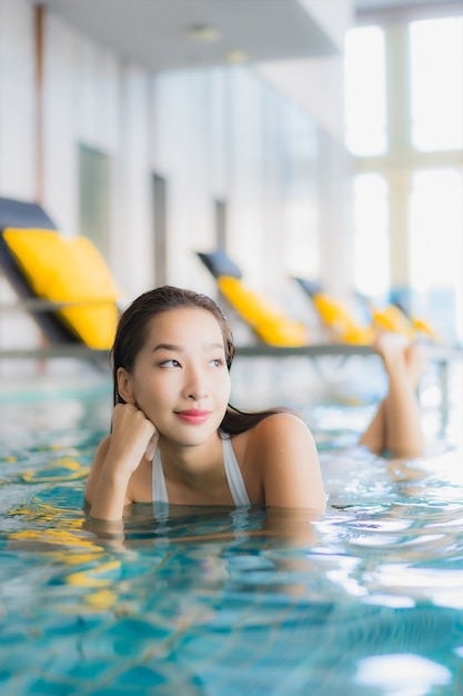
M 403 347 L 379 350 L 391 390 L 362 443 L 414 454 L 415 359 Z M 120 520 L 131 503 L 153 503 L 154 515 L 168 503 L 324 510 L 306 425 L 285 409 L 243 412 L 229 404 L 233 355 L 230 327 L 207 296 L 161 287 L 122 314 L 112 349 L 112 429 L 97 449 L 85 489 L 93 518 Z M 405 420 L 416 431 L 412 440 Z

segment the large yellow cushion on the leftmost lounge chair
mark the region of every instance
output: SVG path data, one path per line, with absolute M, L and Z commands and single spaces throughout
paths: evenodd
M 90 239 L 66 239 L 49 229 L 14 228 L 6 229 L 3 239 L 37 296 L 78 302 L 58 314 L 90 348 L 111 348 L 121 294 Z

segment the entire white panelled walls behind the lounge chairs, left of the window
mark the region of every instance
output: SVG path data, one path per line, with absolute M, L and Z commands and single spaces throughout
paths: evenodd
M 0 0 L 0 196 L 39 190 L 34 71 L 33 8 Z M 349 277 L 349 257 L 322 258 L 348 227 L 339 101 L 339 59 L 150 74 L 47 11 L 43 205 L 78 235 L 79 145 L 110 158 L 108 261 L 129 300 L 155 284 L 153 173 L 168 183 L 169 282 L 215 292 L 194 252 L 214 248 L 224 199 L 230 256 L 286 301 L 290 275 Z

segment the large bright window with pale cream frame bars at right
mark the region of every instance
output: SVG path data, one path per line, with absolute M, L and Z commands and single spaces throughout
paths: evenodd
M 358 27 L 345 51 L 355 288 L 462 342 L 463 17 Z

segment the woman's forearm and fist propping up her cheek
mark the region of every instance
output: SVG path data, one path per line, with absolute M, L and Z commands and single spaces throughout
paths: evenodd
M 152 456 L 157 430 L 144 414 L 130 404 L 114 407 L 112 432 L 97 449 L 85 488 L 90 515 L 98 519 L 122 519 L 132 503 L 129 481 L 143 456 Z

